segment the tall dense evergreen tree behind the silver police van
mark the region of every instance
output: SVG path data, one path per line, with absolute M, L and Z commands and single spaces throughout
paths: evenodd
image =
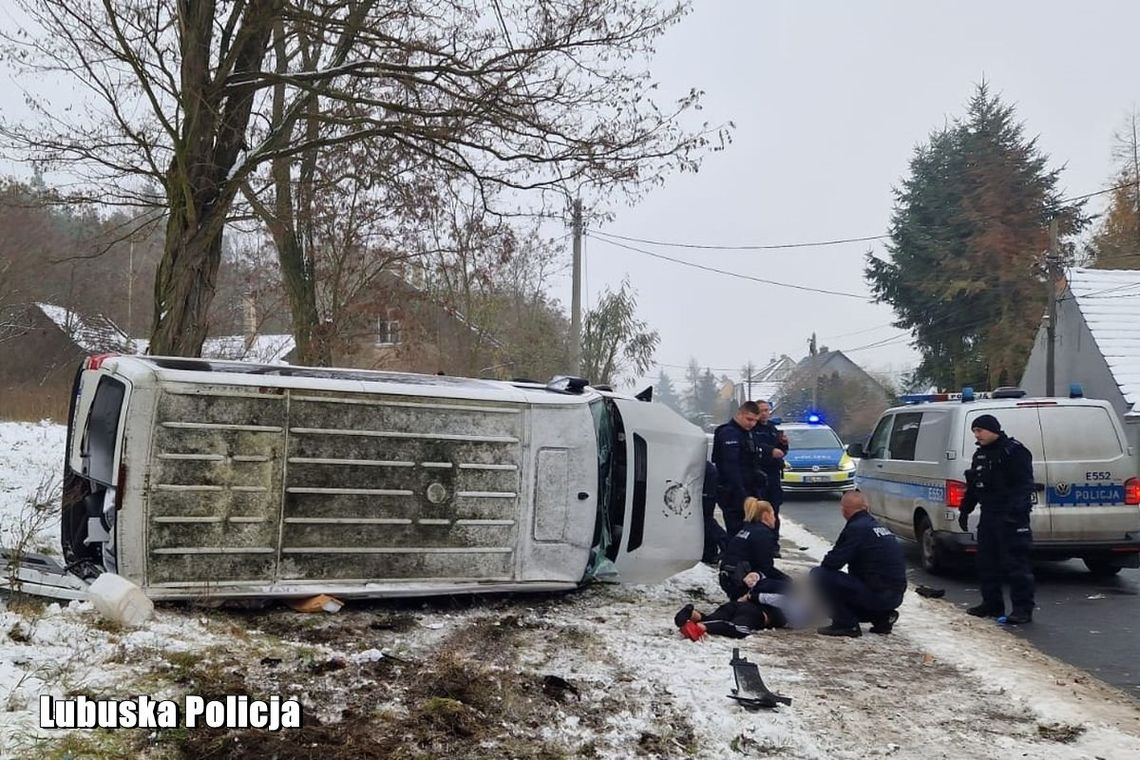
M 943 387 L 1020 377 L 1044 311 L 1049 221 L 1062 235 L 1088 220 L 1061 207 L 1059 170 L 1024 136 L 1013 107 L 978 85 L 966 117 L 933 133 L 895 189 L 888 260 L 866 277 L 897 327 L 913 330 L 917 374 Z

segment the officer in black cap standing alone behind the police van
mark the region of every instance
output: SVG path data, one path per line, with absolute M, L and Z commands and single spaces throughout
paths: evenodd
M 978 618 L 1002 618 L 1023 624 L 1033 620 L 1033 566 L 1029 547 L 1029 509 L 1033 508 L 1033 455 L 1017 439 L 1002 432 L 993 415 L 982 415 L 970 425 L 978 448 L 966 472 L 966 497 L 958 522 L 978 505 L 978 581 L 982 604 L 967 610 Z M 1005 615 L 1003 583 L 1009 585 L 1012 611 Z

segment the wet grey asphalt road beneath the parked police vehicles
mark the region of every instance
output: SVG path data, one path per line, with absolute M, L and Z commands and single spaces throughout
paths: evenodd
M 834 541 L 844 528 L 839 498 L 791 496 L 780 513 L 816 536 Z M 918 546 L 903 541 L 910 591 L 917 586 L 946 589 L 945 599 L 963 610 L 977 604 L 977 579 L 964 569 L 952 575 L 922 570 Z M 1140 700 L 1140 570 L 1122 570 L 1096 579 L 1080 561 L 1040 562 L 1037 608 L 1033 623 L 1011 627 L 1010 634 L 1032 641 L 1042 652 L 1089 671 Z M 899 621 L 899 627 L 905 620 Z

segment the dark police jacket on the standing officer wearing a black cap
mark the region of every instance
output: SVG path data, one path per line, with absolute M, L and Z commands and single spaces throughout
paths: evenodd
M 961 509 L 1013 514 L 1033 508 L 1033 455 L 1016 438 L 1001 433 L 996 441 L 979 446 L 966 471 L 966 497 Z

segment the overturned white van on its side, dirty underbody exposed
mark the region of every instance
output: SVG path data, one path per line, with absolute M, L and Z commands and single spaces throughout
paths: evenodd
M 390 597 L 661 580 L 700 557 L 705 434 L 563 378 L 92 357 L 64 463 L 65 565 L 155 599 Z

